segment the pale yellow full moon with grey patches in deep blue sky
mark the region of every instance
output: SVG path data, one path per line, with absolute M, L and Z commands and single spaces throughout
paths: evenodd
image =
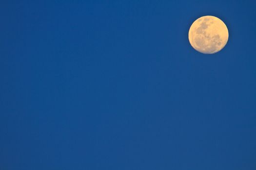
M 204 54 L 222 50 L 228 42 L 228 28 L 214 16 L 199 17 L 190 27 L 188 38 L 191 46 Z

